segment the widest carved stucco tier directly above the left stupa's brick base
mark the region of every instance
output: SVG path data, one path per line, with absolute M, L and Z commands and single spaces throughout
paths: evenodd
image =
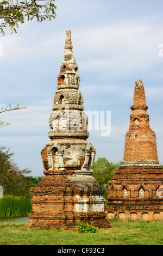
M 92 174 L 96 150 L 90 142 L 78 139 L 50 141 L 42 149 L 41 156 L 45 173 L 56 170 L 74 170 L 76 173 Z

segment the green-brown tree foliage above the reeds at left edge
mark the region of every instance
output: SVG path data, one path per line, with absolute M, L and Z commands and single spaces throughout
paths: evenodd
M 13 155 L 9 149 L 0 147 L 0 185 L 5 194 L 30 198 L 30 187 L 36 186 L 42 177 L 27 176 L 31 170 L 20 170 L 11 158 Z

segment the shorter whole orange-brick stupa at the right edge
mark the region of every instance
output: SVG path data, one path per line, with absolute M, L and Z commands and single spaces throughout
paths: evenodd
M 108 217 L 123 220 L 163 220 L 162 166 L 158 161 L 155 133 L 149 127 L 146 97 L 142 81 L 135 84 L 129 131 L 124 158 L 109 181 Z

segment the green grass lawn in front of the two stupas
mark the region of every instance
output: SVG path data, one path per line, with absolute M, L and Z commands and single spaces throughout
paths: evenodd
M 163 222 L 109 220 L 97 233 L 24 228 L 25 222 L 0 222 L 0 245 L 163 245 Z

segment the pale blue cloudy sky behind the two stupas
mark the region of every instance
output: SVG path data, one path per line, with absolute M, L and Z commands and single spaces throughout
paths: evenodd
M 84 111 L 111 113 L 111 133 L 89 130 L 96 159 L 123 160 L 134 87 L 145 87 L 149 125 L 163 164 L 163 2 L 162 0 L 55 0 L 56 19 L 29 21 L 0 35 L 0 106 L 26 109 L 1 114 L 0 145 L 10 148 L 20 169 L 42 176 L 41 150 L 50 141 L 48 124 L 57 90 L 66 29 L 80 76 Z

